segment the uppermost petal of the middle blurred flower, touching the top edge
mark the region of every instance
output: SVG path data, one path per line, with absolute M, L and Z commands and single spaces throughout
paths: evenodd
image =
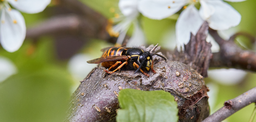
M 138 0 L 120 0 L 118 6 L 123 15 L 135 17 L 139 14 L 137 4 Z

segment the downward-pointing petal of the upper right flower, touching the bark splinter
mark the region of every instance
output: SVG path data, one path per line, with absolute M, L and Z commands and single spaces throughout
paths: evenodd
M 176 22 L 176 41 L 177 48 L 184 46 L 190 40 L 190 33 L 194 35 L 197 33 L 201 25 L 203 24 L 198 10 L 194 5 L 188 6 L 184 11 L 181 12 Z

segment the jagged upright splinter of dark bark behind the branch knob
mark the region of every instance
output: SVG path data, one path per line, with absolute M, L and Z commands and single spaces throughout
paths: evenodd
M 207 22 L 201 26 L 196 35 L 191 33 L 190 41 L 184 47 L 184 52 L 178 52 L 177 49 L 169 59 L 188 64 L 202 76 L 207 77 L 207 69 L 212 58 L 211 43 L 206 42 L 206 32 L 209 26 Z

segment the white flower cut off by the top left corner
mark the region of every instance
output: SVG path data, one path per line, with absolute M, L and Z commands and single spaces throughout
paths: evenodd
M 1 0 L 0 1 L 0 42 L 8 52 L 15 52 L 22 45 L 26 36 L 24 17 L 16 9 L 25 13 L 43 11 L 51 0 Z

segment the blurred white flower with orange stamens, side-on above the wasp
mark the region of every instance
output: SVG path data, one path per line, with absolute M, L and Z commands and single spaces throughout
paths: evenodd
M 139 11 L 137 4 L 139 0 L 119 0 L 118 6 L 124 16 L 116 15 L 115 21 L 110 21 L 110 25 L 107 27 L 110 36 L 118 37 L 117 44 L 122 44 L 124 37 L 130 28 L 131 24 L 134 25 L 132 37 L 128 44 L 136 43 L 136 45 L 145 44 L 145 36 L 139 25 L 137 17 Z M 117 25 L 112 27 L 114 22 L 119 22 Z

